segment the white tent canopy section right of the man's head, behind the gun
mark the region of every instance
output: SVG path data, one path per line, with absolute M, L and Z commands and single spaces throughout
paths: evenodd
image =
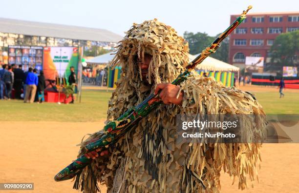
M 192 59 L 196 58 L 197 55 L 189 55 L 189 60 L 192 61 Z M 226 62 L 220 61 L 218 59 L 207 57 L 205 60 L 203 60 L 200 64 L 198 64 L 195 68 L 196 70 L 208 70 L 208 71 L 233 71 L 237 72 L 240 69 L 236 66 L 233 66 L 231 64 L 228 64 Z

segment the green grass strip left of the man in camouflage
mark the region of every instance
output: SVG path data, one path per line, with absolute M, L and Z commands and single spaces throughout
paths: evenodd
M 23 103 L 0 100 L 1 121 L 95 122 L 107 117 L 111 91 L 83 90 L 81 103 Z

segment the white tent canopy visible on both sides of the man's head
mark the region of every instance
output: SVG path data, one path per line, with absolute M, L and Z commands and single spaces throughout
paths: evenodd
M 111 55 L 112 54 L 112 55 Z M 97 57 L 94 57 L 92 59 L 87 59 L 86 62 L 90 64 L 108 64 L 112 58 L 115 55 L 113 55 L 113 52 L 109 52 L 107 54 L 103 54 Z M 198 55 L 189 55 L 189 61 L 192 61 L 194 58 L 196 58 Z M 233 66 L 231 64 L 225 63 L 223 61 L 220 61 L 218 59 L 208 57 L 206 58 L 201 64 L 196 66 L 196 70 L 208 70 L 208 71 L 239 71 L 239 68 L 236 66 Z

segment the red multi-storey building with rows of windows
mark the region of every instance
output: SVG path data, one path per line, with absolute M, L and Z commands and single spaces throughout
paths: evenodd
M 238 15 L 231 15 L 231 23 Z M 229 63 L 245 67 L 246 57 L 264 57 L 270 61 L 269 50 L 281 33 L 299 30 L 299 12 L 253 13 L 230 36 Z

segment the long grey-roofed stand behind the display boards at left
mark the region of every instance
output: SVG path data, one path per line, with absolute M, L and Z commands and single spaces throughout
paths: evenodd
M 99 46 L 112 49 L 122 39 L 105 29 L 0 18 L 0 51 L 8 45 Z

